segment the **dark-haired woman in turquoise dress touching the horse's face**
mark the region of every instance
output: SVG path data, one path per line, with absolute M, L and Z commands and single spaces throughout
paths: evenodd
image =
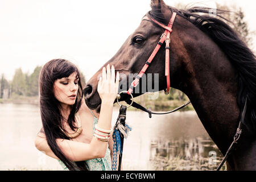
M 82 99 L 80 73 L 64 59 L 44 65 L 39 77 L 40 112 L 43 128 L 35 139 L 39 151 L 59 160 L 69 170 L 111 170 L 113 103 L 119 73 L 110 65 L 98 82 L 100 115 Z

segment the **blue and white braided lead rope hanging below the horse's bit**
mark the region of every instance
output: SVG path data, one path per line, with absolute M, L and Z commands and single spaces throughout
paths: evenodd
M 118 171 L 121 170 L 122 154 L 123 154 L 123 139 L 127 138 L 129 131 L 131 131 L 131 127 L 125 123 L 126 109 L 127 109 L 126 106 L 123 106 L 123 105 L 120 106 L 117 122 L 115 123 L 115 126 L 114 126 L 112 171 L 117 171 L 117 156 L 119 156 Z

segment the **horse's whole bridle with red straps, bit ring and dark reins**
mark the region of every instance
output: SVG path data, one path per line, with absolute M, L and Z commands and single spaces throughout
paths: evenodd
M 161 35 L 160 40 L 159 40 L 158 44 L 156 45 L 154 51 L 151 53 L 150 57 L 148 58 L 148 60 L 144 64 L 144 67 L 141 69 L 141 72 L 139 72 L 139 75 L 131 83 L 131 86 L 130 86 L 129 90 L 127 92 L 126 91 L 123 91 L 123 92 L 126 92 L 127 94 L 131 95 L 131 92 L 133 92 L 133 89 L 138 85 L 139 80 L 142 78 L 144 72 L 146 72 L 148 66 L 151 64 L 151 61 L 154 59 L 156 53 L 159 51 L 160 47 L 163 45 L 163 42 L 165 41 L 166 42 L 165 76 L 166 76 L 166 79 L 167 79 L 167 88 L 164 89 L 164 93 L 169 94 L 169 91 L 170 91 L 170 35 L 171 35 L 171 32 L 172 32 L 172 25 L 174 24 L 175 18 L 176 18 L 176 13 L 174 12 L 174 13 L 172 13 L 172 16 L 170 18 L 168 26 L 166 26 L 162 23 L 159 23 L 158 21 L 156 21 L 153 18 L 149 18 L 148 16 L 144 16 L 142 18 L 142 20 L 149 20 L 149 21 L 152 21 L 152 22 L 158 24 L 160 27 L 163 27 L 165 29 L 165 31 Z M 133 98 L 132 95 L 131 95 L 131 97 Z M 118 102 L 119 98 L 120 98 L 120 96 L 118 96 L 117 102 Z M 125 102 L 127 104 L 130 104 L 128 107 L 133 106 L 137 109 L 141 109 L 141 110 L 147 112 L 148 116 L 150 118 L 151 118 L 151 114 L 169 114 L 169 113 L 173 113 L 174 111 L 177 111 L 177 110 L 179 110 L 179 109 L 181 109 L 181 108 L 183 108 L 183 107 L 185 107 L 185 106 L 187 106 L 188 104 L 191 103 L 191 101 L 188 101 L 187 104 L 184 104 L 184 105 L 182 105 L 180 107 L 177 107 L 176 109 L 168 111 L 166 113 L 155 113 L 155 112 L 152 112 L 150 110 L 150 108 L 146 109 L 145 107 L 137 104 L 134 101 L 126 100 Z M 119 102 L 118 102 L 118 104 L 119 104 Z M 242 110 L 242 115 L 241 115 L 241 118 L 240 118 L 240 122 L 239 122 L 239 125 L 238 125 L 238 128 L 237 128 L 236 134 L 233 137 L 233 142 L 232 142 L 232 144 L 230 144 L 228 150 L 226 151 L 226 154 L 225 154 L 224 158 L 222 159 L 221 163 L 217 167 L 217 171 L 220 170 L 222 165 L 226 162 L 226 160 L 228 159 L 228 156 L 233 151 L 235 144 L 237 144 L 238 139 L 240 139 L 240 135 L 242 134 L 242 123 L 244 123 L 244 119 L 245 119 L 246 107 L 247 107 L 247 97 L 246 97 L 246 100 L 245 100 L 245 105 L 244 105 L 243 110 Z

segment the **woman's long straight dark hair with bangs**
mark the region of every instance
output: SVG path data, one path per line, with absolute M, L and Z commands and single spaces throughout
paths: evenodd
M 61 131 L 61 129 L 64 130 L 62 122 L 64 118 L 61 115 L 60 102 L 55 98 L 53 93 L 53 84 L 55 80 L 69 77 L 74 72 L 80 78 L 79 69 L 77 69 L 75 64 L 65 59 L 53 59 L 44 65 L 39 76 L 40 112 L 47 143 L 52 152 L 72 171 L 88 170 L 88 167 L 85 162 L 71 162 L 57 146 L 57 138 L 70 138 Z M 79 111 L 82 100 L 82 85 L 80 80 L 78 81 L 79 89 L 77 90 L 76 102 L 72 106 L 67 121 L 72 130 L 76 128 L 75 114 Z

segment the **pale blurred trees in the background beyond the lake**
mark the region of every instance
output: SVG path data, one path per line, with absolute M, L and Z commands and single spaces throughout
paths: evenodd
M 222 6 L 216 4 L 218 9 L 222 10 L 237 10 L 236 13 L 226 13 L 224 14 L 224 18 L 229 19 L 230 21 L 225 21 L 228 23 L 234 30 L 240 35 L 243 42 L 247 44 L 247 46 L 253 46 L 253 36 L 255 35 L 255 31 L 251 32 L 249 30 L 247 22 L 244 20 L 244 14 L 241 8 L 237 8 L 235 5 L 233 6 Z M 177 3 L 175 6 L 178 9 L 182 9 L 184 5 Z M 12 81 L 7 81 L 5 76 L 2 75 L 0 81 L 0 98 L 10 98 L 11 96 L 38 96 L 39 85 L 38 85 L 38 77 L 41 66 L 38 66 L 34 69 L 34 72 L 29 75 L 28 73 L 23 73 L 21 68 L 16 69 L 15 75 Z M 81 73 L 82 75 L 82 73 Z M 85 84 L 85 77 L 82 75 L 82 84 Z M 179 90 L 172 89 L 168 100 L 183 100 L 184 93 Z

